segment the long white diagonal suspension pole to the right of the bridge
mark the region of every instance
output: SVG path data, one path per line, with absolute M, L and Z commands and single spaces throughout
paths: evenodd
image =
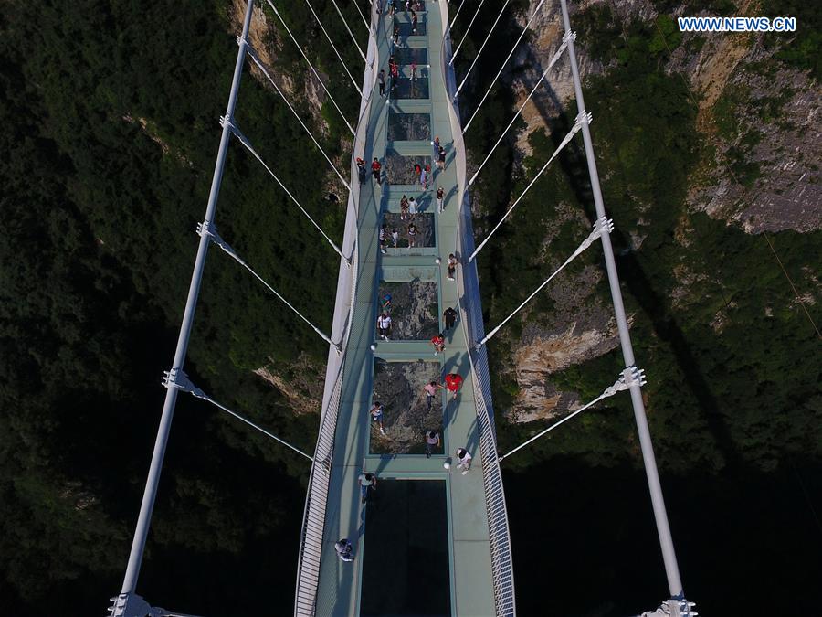
M 578 111 L 582 113 L 585 112 L 585 99 L 583 98 L 582 84 L 579 80 L 579 68 L 576 65 L 576 52 L 574 50 L 574 38 L 571 36 L 571 20 L 568 17 L 568 5 L 566 0 L 560 0 L 560 4 L 563 9 L 565 34 L 568 36 L 568 55 L 571 59 L 571 73 L 574 76 L 576 106 Z M 591 190 L 594 193 L 596 216 L 597 218 L 602 218 L 606 216 L 605 205 L 602 201 L 599 176 L 596 172 L 591 130 L 587 122 L 583 123 L 582 132 L 583 139 L 585 140 L 585 158 L 588 162 L 588 174 L 591 176 Z M 622 292 L 619 289 L 617 262 L 614 260 L 614 250 L 611 247 L 610 236 L 604 233 L 601 239 L 602 249 L 606 259 L 608 284 L 611 287 L 611 297 L 614 300 L 614 312 L 617 315 L 617 328 L 619 330 L 619 342 L 622 346 L 622 356 L 625 358 L 626 367 L 632 367 L 635 364 L 634 349 L 631 346 L 631 337 L 628 333 L 627 319 L 625 316 L 625 305 L 622 303 Z M 642 459 L 645 462 L 645 473 L 648 475 L 648 489 L 650 491 L 651 503 L 654 507 L 654 517 L 657 520 L 659 545 L 662 548 L 662 558 L 665 561 L 665 573 L 668 575 L 668 587 L 672 598 L 680 598 L 682 597 L 680 568 L 677 565 L 677 555 L 674 552 L 673 539 L 670 536 L 668 513 L 665 510 L 665 500 L 662 497 L 662 488 L 659 484 L 659 472 L 657 471 L 657 461 L 654 457 L 650 431 L 648 431 L 648 418 L 645 415 L 645 404 L 642 401 L 642 392 L 638 386 L 630 388 L 630 390 L 631 402 L 634 405 L 634 416 L 637 420 L 639 443 L 642 447 Z

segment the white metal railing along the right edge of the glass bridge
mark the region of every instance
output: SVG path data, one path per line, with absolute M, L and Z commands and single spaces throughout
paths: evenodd
M 448 3 L 439 2 L 442 24 L 448 24 Z M 482 466 L 482 482 L 485 488 L 485 507 L 488 516 L 490 540 L 491 577 L 494 587 L 494 605 L 498 617 L 516 614 L 514 595 L 513 563 L 511 557 L 511 535 L 508 528 L 508 511 L 497 453 L 497 436 L 494 427 L 491 403 L 488 353 L 485 346 L 475 349 L 477 342 L 485 335 L 479 298 L 479 277 L 476 262 L 466 262 L 465 256 L 474 250 L 473 227 L 468 194 L 465 144 L 459 121 L 458 101 L 456 101 L 457 80 L 454 69 L 448 64 L 451 56 L 450 28 L 447 27 L 442 39 L 443 80 L 448 89 L 448 117 L 453 134 L 453 148 L 457 165 L 458 204 L 457 254 L 462 261 L 457 275 L 459 296 L 459 317 L 469 348 L 471 385 L 477 406 L 479 425 L 479 452 Z

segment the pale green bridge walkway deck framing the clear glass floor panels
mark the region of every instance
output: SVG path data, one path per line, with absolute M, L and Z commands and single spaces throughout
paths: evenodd
M 399 3 L 398 3 L 399 4 Z M 458 196 L 456 158 L 448 119 L 448 91 L 442 66 L 442 37 L 444 24 L 436 3 L 428 0 L 427 11 L 420 13 L 419 36 L 406 36 L 408 16 L 398 12 L 396 21 L 401 25 L 401 47 L 393 49 L 391 34 L 394 19 L 384 15 L 376 18 L 378 57 L 381 68 L 388 72 L 386 59 L 394 52 L 398 61 L 410 59 L 409 50 L 425 50 L 427 62 L 420 63 L 420 81 L 411 91 L 407 79 L 410 68 L 401 66 L 397 92 L 406 98 L 381 97 L 374 92 L 368 101 L 368 117 L 364 159 L 374 157 L 384 163 L 384 180 L 380 186 L 369 174 L 361 189 L 358 212 L 358 261 L 353 320 L 344 349 L 342 395 L 339 419 L 334 438 L 330 489 L 325 511 L 320 581 L 317 591 L 316 613 L 319 615 L 361 614 L 362 590 L 366 584 L 391 584 L 391 567 L 386 564 L 385 578 L 379 582 L 363 580 L 364 555 L 369 550 L 365 530 L 368 527 L 365 506 L 361 504 L 357 478 L 363 471 L 375 472 L 380 481 L 386 479 L 440 480 L 447 491 L 447 511 L 441 516 L 448 520 L 449 568 L 451 592 L 450 610 L 454 615 L 495 614 L 492 584 L 489 522 L 479 452 L 479 426 L 474 390 L 470 387 L 468 346 L 464 329 L 452 328 L 446 337 L 446 351 L 434 356 L 427 340 L 377 340 L 375 322 L 378 311 L 378 285 L 381 280 L 399 281 L 420 279 L 437 284 L 440 328 L 442 311 L 458 308 L 458 285 L 448 281 L 447 261 L 450 252 L 457 251 Z M 433 6 L 431 6 L 433 4 Z M 427 65 L 427 66 L 426 66 Z M 427 82 L 427 84 L 426 84 Z M 427 96 L 425 86 L 427 85 Z M 389 94 L 391 94 L 389 92 Z M 413 98 L 412 98 L 413 97 Z M 430 134 L 425 140 L 393 141 L 389 139 L 389 124 L 398 113 L 429 114 Z M 432 156 L 430 140 L 438 135 L 447 150 L 444 171 L 436 170 L 430 161 L 433 181 L 427 191 L 418 185 L 397 184 L 398 176 L 406 170 L 395 162 L 397 157 Z M 390 162 L 386 155 L 391 157 Z M 394 182 L 392 182 L 394 179 Z M 446 192 L 444 212 L 437 212 L 434 193 L 437 186 Z M 388 249 L 383 255 L 379 249 L 378 230 L 386 212 L 399 212 L 403 195 L 414 196 L 420 202 L 421 215 L 433 214 L 433 247 L 421 249 Z M 435 262 L 436 257 L 441 262 Z M 374 350 L 371 346 L 374 344 Z M 424 454 L 374 453 L 374 441 L 380 439 L 376 425 L 372 425 L 368 410 L 374 401 L 374 363 L 414 362 L 424 360 L 436 363 L 441 377 L 454 370 L 464 379 L 458 399 L 453 401 L 442 391 L 442 437 L 444 453 L 426 458 Z M 422 396 L 422 393 L 420 393 Z M 387 426 L 386 414 L 386 428 Z M 419 435 L 420 440 L 423 435 Z M 448 471 L 443 467 L 458 447 L 466 447 L 473 456 L 473 468 L 461 474 L 456 464 Z M 354 544 L 355 559 L 345 563 L 337 558 L 334 542 L 348 537 Z M 402 555 L 397 555 L 402 559 Z

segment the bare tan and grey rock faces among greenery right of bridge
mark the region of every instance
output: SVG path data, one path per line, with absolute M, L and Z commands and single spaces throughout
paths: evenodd
M 531 1 L 527 14 L 519 19 L 520 27 L 537 5 L 538 0 Z M 761 14 L 753 5 L 741 2 L 733 14 Z M 632 22 L 658 24 L 659 13 L 650 2 L 594 0 L 571 6 L 572 25 L 582 27 L 583 14 L 603 8 L 610 13 L 611 26 L 621 30 L 623 37 Z M 682 4 L 668 15 L 695 13 Z M 532 31 L 531 44 L 520 48 L 504 74 L 515 92 L 517 106 L 525 101 L 562 43 L 564 29 L 558 2 L 543 6 L 532 23 Z M 584 31 L 577 32 L 575 48 L 584 83 L 616 66 L 615 60 L 604 65 L 595 59 L 588 51 L 591 41 L 585 40 Z M 687 81 L 690 98 L 699 110 L 696 128 L 702 143 L 701 160 L 689 178 L 686 211 L 706 212 L 749 234 L 822 229 L 817 166 L 822 160 L 822 140 L 816 122 L 822 92 L 807 71 L 790 69 L 775 59 L 778 48 L 765 35 L 686 34 L 664 66 L 669 75 L 679 74 Z M 525 128 L 515 144 L 519 161 L 532 154 L 532 133 L 545 130 L 561 112 L 567 112 L 568 106 L 575 113 L 571 71 L 567 59 L 561 58 L 523 109 Z M 592 130 L 597 130 L 596 118 Z M 601 167 L 600 174 L 607 181 L 608 170 Z M 558 222 L 573 218 L 566 211 Z M 627 222 L 634 223 L 623 221 L 623 225 Z M 687 247 L 692 230 L 686 218 L 682 224 L 677 241 Z M 546 238 L 547 246 L 552 241 L 551 233 Z M 644 236 L 633 233 L 631 239 L 637 250 Z M 809 271 L 806 274 L 810 276 Z M 502 364 L 509 367 L 508 378 L 516 382 L 514 404 L 506 410 L 511 420 L 528 422 L 574 410 L 580 402 L 577 394 L 557 388 L 553 375 L 616 348 L 610 303 L 601 303 L 593 294 L 599 278 L 601 273 L 591 269 L 581 276 L 557 280 L 556 287 L 551 288 L 556 291 L 549 291 L 553 299 L 550 314 L 541 315 L 535 323 L 526 325 L 516 340 L 509 340 L 515 351 Z M 674 268 L 673 278 L 678 282 L 670 292 L 675 307 L 693 302 L 694 290 L 706 284 L 722 285 L 715 274 L 691 270 L 684 263 Z M 570 297 L 569 290 L 573 290 Z M 691 297 L 686 299 L 689 294 Z M 814 298 L 807 297 L 806 301 L 813 303 Z M 716 333 L 722 332 L 726 314 L 734 308 L 731 302 L 716 314 L 711 322 Z

